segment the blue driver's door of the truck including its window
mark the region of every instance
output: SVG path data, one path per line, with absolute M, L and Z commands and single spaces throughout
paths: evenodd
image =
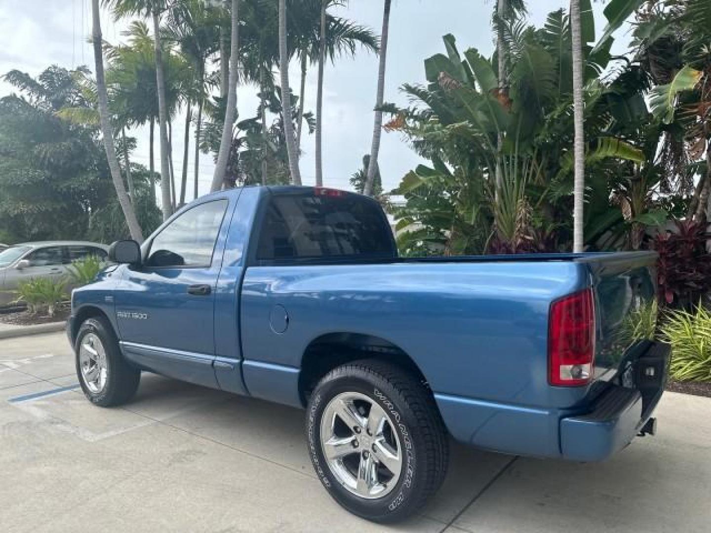
M 123 351 L 141 367 L 218 387 L 213 313 L 228 205 L 218 199 L 182 212 L 146 245 L 144 264 L 127 267 L 116 317 Z

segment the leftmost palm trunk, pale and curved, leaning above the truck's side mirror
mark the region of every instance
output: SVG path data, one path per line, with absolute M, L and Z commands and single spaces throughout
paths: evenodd
M 116 156 L 116 147 L 114 146 L 113 128 L 111 119 L 109 118 L 109 97 L 106 90 L 106 79 L 104 76 L 104 56 L 102 52 L 102 35 L 101 35 L 101 18 L 99 11 L 99 0 L 92 0 L 92 42 L 94 44 L 94 61 L 96 64 L 96 86 L 97 97 L 99 100 L 99 115 L 101 119 L 101 130 L 104 136 L 104 148 L 106 150 L 106 158 L 109 162 L 109 170 L 111 171 L 111 179 L 114 182 L 116 195 L 119 199 L 119 205 L 124 213 L 126 225 L 129 227 L 131 237 L 138 242 L 143 242 L 143 232 L 138 223 L 136 212 L 134 211 L 131 200 L 126 194 L 124 182 L 121 178 L 121 168 L 119 168 L 119 160 Z

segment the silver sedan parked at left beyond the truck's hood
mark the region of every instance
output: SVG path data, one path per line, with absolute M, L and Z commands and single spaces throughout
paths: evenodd
M 16 244 L 0 252 L 0 307 L 17 299 L 21 281 L 34 278 L 60 278 L 68 266 L 90 255 L 106 259 L 109 247 L 97 242 L 47 241 Z

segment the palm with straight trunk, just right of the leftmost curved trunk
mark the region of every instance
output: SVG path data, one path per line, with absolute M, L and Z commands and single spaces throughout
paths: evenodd
M 148 16 L 153 22 L 154 53 L 156 58 L 156 88 L 158 92 L 158 123 L 161 146 L 161 209 L 167 220 L 173 214 L 171 200 L 171 171 L 168 141 L 168 107 L 166 104 L 166 80 L 161 43 L 161 14 L 166 10 L 166 0 L 106 0 L 114 6 L 118 18 L 128 15 Z

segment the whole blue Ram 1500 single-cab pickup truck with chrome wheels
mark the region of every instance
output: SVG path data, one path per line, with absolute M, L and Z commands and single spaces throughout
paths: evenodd
M 375 200 L 247 187 L 109 257 L 68 323 L 90 402 L 148 371 L 305 408 L 316 474 L 361 517 L 419 510 L 450 436 L 601 461 L 655 429 L 669 350 L 630 333 L 650 252 L 402 258 Z

